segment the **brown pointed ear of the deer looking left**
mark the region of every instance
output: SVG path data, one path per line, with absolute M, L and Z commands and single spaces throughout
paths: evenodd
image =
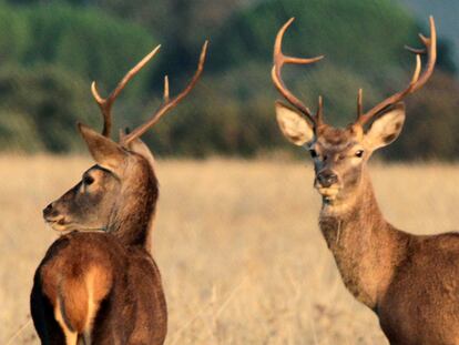
M 78 128 L 81 136 L 86 142 L 92 158 L 99 165 L 108 170 L 115 170 L 124 162 L 126 153 L 118 143 L 82 123 L 79 123 Z

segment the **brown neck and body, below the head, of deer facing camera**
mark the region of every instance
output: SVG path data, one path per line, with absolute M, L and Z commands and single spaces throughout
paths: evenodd
M 348 211 L 325 205 L 319 219 L 346 287 L 378 315 L 390 344 L 459 344 L 459 234 L 399 231 L 368 176 L 359 192 Z

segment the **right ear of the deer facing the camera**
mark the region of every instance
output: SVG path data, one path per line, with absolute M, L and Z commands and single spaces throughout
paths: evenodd
M 401 132 L 405 122 L 405 104 L 397 103 L 377 119 L 365 134 L 371 150 L 392 143 Z

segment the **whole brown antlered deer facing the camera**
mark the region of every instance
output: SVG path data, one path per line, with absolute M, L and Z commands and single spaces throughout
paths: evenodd
M 319 226 L 344 284 L 377 314 L 390 344 L 459 344 L 459 234 L 420 236 L 396 229 L 378 207 L 367 169 L 373 152 L 394 142 L 401 131 L 405 106 L 400 101 L 434 72 L 434 19 L 430 38 L 420 35 L 426 49 L 409 49 L 417 54 L 417 65 L 408 87 L 367 112 L 360 90 L 358 118 L 344 129 L 324 122 L 322 98 L 313 114 L 282 80 L 284 64 L 323 58 L 283 54 L 283 35 L 292 21 L 277 34 L 272 73 L 292 106 L 276 102 L 276 116 L 283 134 L 306 148 L 314 160 L 314 186 L 323 196 Z M 424 52 L 428 61 L 421 73 L 419 54 Z

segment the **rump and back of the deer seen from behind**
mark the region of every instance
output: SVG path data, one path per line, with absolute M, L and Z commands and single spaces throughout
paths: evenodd
M 122 246 L 111 234 L 73 232 L 55 241 L 37 271 L 31 301 L 43 344 L 165 339 L 167 313 L 155 263 L 145 250 Z

